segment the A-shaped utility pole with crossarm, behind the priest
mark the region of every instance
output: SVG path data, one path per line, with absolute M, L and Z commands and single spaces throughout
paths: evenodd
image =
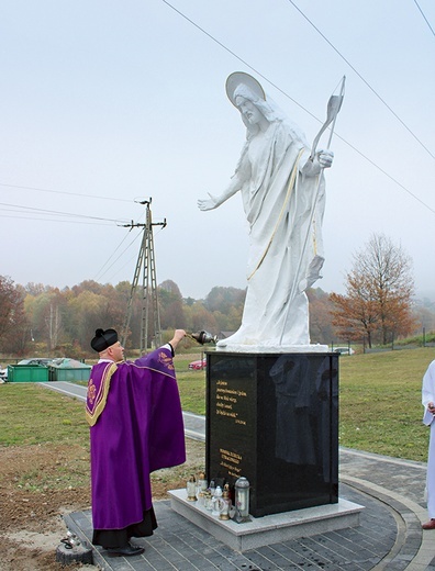
M 148 325 L 149 318 L 153 320 L 152 339 L 154 338 L 156 347 L 161 345 L 160 331 L 160 312 L 158 307 L 157 294 L 157 277 L 156 277 L 156 260 L 154 254 L 153 226 L 166 226 L 166 219 L 164 222 L 153 223 L 150 211 L 152 199 L 144 200 L 140 204 L 146 204 L 146 220 L 145 224 L 124 224 L 125 227 L 134 228 L 142 227 L 143 236 L 141 248 L 137 257 L 136 268 L 134 270 L 133 283 L 129 299 L 129 305 L 125 316 L 125 324 L 122 334 L 122 344 L 125 345 L 129 335 L 130 320 L 132 316 L 133 300 L 136 294 L 137 284 L 140 281 L 142 270 L 142 316 L 141 316 L 141 355 L 148 348 Z M 150 315 L 152 314 L 152 315 Z

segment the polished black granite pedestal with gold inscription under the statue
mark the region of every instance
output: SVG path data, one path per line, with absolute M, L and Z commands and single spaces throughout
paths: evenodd
M 205 450 L 254 517 L 337 503 L 338 356 L 208 352 Z

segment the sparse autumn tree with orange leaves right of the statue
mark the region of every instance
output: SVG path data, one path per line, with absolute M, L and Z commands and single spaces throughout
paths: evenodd
M 346 294 L 330 296 L 337 334 L 354 340 L 366 337 L 371 347 L 413 332 L 412 261 L 402 247 L 383 234 L 373 234 L 353 258 Z

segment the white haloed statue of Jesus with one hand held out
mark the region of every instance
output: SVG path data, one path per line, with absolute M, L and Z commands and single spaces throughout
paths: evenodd
M 331 167 L 333 154 L 319 152 L 310 158 L 301 130 L 249 75 L 232 74 L 226 92 L 247 127 L 246 143 L 226 190 L 219 197 L 209 193 L 198 206 L 215 209 L 241 191 L 249 223 L 249 255 L 242 325 L 219 342 L 217 349 L 308 348 L 305 291 L 321 278 L 323 169 Z

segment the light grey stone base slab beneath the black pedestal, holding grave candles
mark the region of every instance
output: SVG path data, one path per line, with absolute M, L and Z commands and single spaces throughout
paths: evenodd
M 186 489 L 170 490 L 169 496 L 175 512 L 241 553 L 280 541 L 356 527 L 364 510 L 362 505 L 338 499 L 337 504 L 253 517 L 252 522 L 237 524 L 211 515 L 199 501 L 189 502 Z

